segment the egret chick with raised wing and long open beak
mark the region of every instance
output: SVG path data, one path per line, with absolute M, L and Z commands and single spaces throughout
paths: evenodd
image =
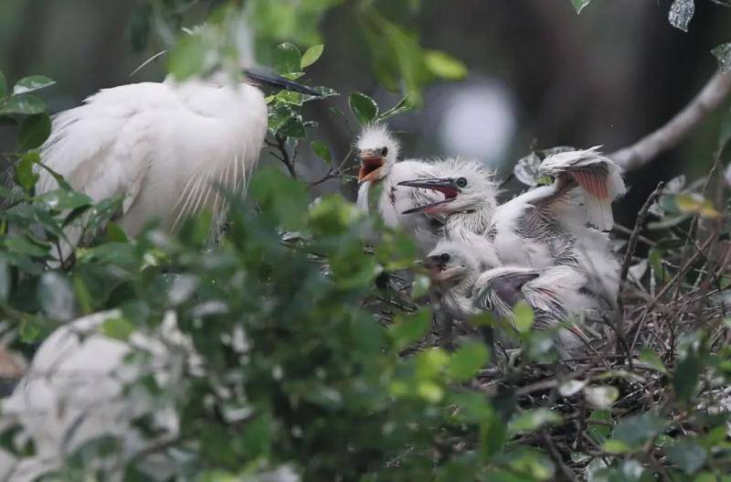
M 543 172 L 555 177 L 551 186 L 535 187 L 496 209 L 485 208 L 494 199 L 491 177 L 467 164 L 452 166 L 443 177 L 408 180 L 401 186 L 445 193 L 440 201 L 408 212 L 447 215 L 445 233 L 467 241 L 483 269 L 569 264 L 587 273 L 587 290 L 612 305 L 619 262 L 610 252 L 609 236 L 588 224 L 612 224 L 607 199 L 624 193 L 619 167 L 596 149 L 552 155 L 544 163 Z

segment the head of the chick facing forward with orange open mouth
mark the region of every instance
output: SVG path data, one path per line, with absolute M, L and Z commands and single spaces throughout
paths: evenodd
M 364 183 L 386 177 L 396 164 L 400 147 L 385 124 L 372 123 L 363 128 L 355 149 L 360 159 L 358 182 Z

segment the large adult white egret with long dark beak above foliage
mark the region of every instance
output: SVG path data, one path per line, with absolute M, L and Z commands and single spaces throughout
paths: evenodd
M 118 222 L 130 236 L 149 220 L 173 231 L 202 209 L 218 214 L 218 187 L 244 186 L 264 143 L 267 105 L 255 83 L 318 95 L 291 80 L 244 72 L 240 83 L 218 71 L 104 89 L 54 117 L 41 161 L 95 201 L 122 195 Z M 46 169 L 38 174 L 38 194 L 58 187 Z M 71 246 L 79 235 L 69 230 Z

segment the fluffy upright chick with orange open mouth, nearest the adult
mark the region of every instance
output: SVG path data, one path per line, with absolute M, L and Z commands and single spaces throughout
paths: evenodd
M 360 160 L 356 204 L 364 212 L 378 213 L 386 225 L 401 228 L 429 251 L 437 241 L 439 217 L 428 212 L 418 216 L 402 213 L 422 204 L 437 202 L 440 194 L 428 189 L 399 187 L 401 181 L 434 177 L 434 164 L 418 159 L 398 161 L 400 145 L 383 123 L 366 125 L 355 142 Z

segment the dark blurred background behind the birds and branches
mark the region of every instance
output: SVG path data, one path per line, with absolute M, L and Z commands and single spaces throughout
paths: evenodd
M 300 3 L 307 1 L 291 2 Z M 405 155 L 478 157 L 509 173 L 514 160 L 532 147 L 604 145 L 612 151 L 629 145 L 694 96 L 716 68 L 709 50 L 731 41 L 731 9 L 698 0 L 690 31 L 683 33 L 668 24 L 670 4 L 595 0 L 577 16 L 569 0 L 376 2 L 383 16 L 418 33 L 424 47 L 447 51 L 469 69 L 464 81 L 431 84 L 423 109 L 392 120 L 404 132 Z M 57 80 L 44 92 L 52 112 L 101 88 L 161 80 L 164 60 L 130 77 L 162 45 L 153 35 L 142 51 L 133 51 L 130 26 L 139 5 L 3 0 L 0 70 L 9 81 L 36 73 Z M 372 74 L 358 15 L 354 2 L 346 1 L 323 17 L 324 55 L 306 78 L 345 94 L 308 107 L 320 124 L 318 138 L 331 145 L 335 157 L 345 155 L 353 134 L 331 106 L 347 112 L 351 91 L 371 95 L 383 108 L 399 98 Z M 630 222 L 657 180 L 679 173 L 693 178 L 707 170 L 719 119 L 720 113 L 680 148 L 632 174 L 620 221 Z M 355 125 L 351 120 L 350 129 Z M 12 138 L 0 133 L 0 145 Z M 302 177 L 316 178 L 324 167 L 308 155 L 302 153 Z M 318 189 L 341 188 L 352 196 L 352 186 L 337 182 Z

